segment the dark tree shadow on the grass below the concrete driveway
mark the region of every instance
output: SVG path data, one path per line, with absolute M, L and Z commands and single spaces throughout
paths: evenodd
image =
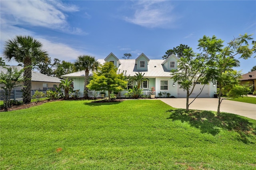
M 168 110 L 172 113 L 167 119 L 188 122 L 192 127 L 199 128 L 202 133 L 216 135 L 220 129 L 236 131 L 244 143 L 256 143 L 256 123 L 249 122 L 247 118 L 231 113 L 220 113 L 214 111 L 197 111 L 185 109 Z

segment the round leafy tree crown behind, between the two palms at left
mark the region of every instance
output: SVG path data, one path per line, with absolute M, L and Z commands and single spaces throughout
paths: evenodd
M 57 65 L 57 68 L 54 71 L 56 77 L 61 78 L 61 75 L 69 74 L 75 72 L 74 63 L 68 61 L 62 61 Z

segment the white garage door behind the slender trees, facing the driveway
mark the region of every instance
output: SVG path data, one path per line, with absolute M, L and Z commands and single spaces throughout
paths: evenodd
M 184 91 L 184 89 L 179 88 L 180 85 L 178 85 L 178 97 L 187 97 L 187 91 Z M 193 93 L 190 95 L 190 98 L 196 97 L 202 88 L 204 87 L 202 93 L 198 97 L 209 97 L 209 85 L 201 85 L 200 83 L 196 84 Z M 191 87 L 192 89 L 192 87 Z

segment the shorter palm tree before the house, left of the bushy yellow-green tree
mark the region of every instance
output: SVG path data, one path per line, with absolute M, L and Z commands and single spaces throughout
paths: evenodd
M 86 86 L 89 83 L 89 71 L 96 70 L 99 63 L 95 60 L 95 57 L 90 55 L 79 55 L 78 59 L 74 62 L 74 65 L 78 71 L 84 70 L 84 98 L 88 98 L 88 88 Z

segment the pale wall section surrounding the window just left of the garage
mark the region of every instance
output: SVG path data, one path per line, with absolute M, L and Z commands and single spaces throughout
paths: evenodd
M 160 81 L 161 80 L 168 80 L 168 90 L 160 90 Z M 173 79 L 170 79 L 170 77 L 157 77 L 156 78 L 156 96 L 159 97 L 158 93 L 161 92 L 167 92 L 170 93 L 170 96 L 177 97 L 178 96 L 178 86 L 177 83 L 175 84 L 175 87 L 173 87 Z

